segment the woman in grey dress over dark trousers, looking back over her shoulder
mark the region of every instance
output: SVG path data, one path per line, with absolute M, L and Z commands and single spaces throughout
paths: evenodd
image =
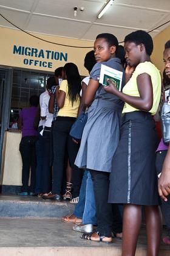
M 109 174 L 112 169 L 112 157 L 120 137 L 120 118 L 123 101 L 106 93 L 98 80 L 101 63 L 123 72 L 120 59 L 116 57 L 118 40 L 112 34 L 100 34 L 94 44 L 97 64 L 90 73 L 90 82 L 86 90 L 86 105 L 89 106 L 88 118 L 84 127 L 80 149 L 75 161 L 79 168 L 90 171 L 94 182 L 97 207 L 97 230 L 83 234 L 82 238 L 93 241 L 112 241 L 112 208 L 107 204 Z

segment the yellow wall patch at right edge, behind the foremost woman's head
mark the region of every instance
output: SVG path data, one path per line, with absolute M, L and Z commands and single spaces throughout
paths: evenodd
M 152 62 L 163 73 L 163 51 L 166 41 L 170 40 L 170 26 L 154 37 L 154 51 L 152 53 Z

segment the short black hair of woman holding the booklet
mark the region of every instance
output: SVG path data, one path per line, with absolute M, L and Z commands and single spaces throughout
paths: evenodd
M 154 49 L 154 44 L 151 35 L 149 35 L 146 31 L 137 30 L 129 35 L 126 35 L 126 37 L 124 38 L 124 43 L 126 43 L 127 41 L 135 43 L 137 45 L 141 43 L 144 44 L 146 54 L 151 56 Z

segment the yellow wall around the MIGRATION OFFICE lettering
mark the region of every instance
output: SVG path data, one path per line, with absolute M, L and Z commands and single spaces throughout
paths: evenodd
M 64 66 L 66 62 L 62 59 L 60 60 L 47 60 L 41 57 L 31 57 L 19 54 L 13 54 L 13 46 L 16 45 L 36 48 L 38 50 L 43 49 L 44 51 L 54 51 L 54 52 L 63 52 L 63 54 L 67 53 L 67 62 L 73 62 L 78 66 L 79 72 L 81 76 L 86 76 L 87 70 L 84 68 L 84 57 L 87 52 L 93 49 L 94 43 L 92 41 L 83 41 L 76 40 L 70 38 L 63 37 L 55 37 L 41 34 L 33 34 L 37 37 L 43 38 L 44 40 L 52 41 L 60 44 L 69 44 L 73 46 L 92 46 L 92 48 L 69 48 L 66 46 L 58 46 L 56 44 L 46 43 L 44 41 L 38 40 L 36 38 L 31 37 L 30 35 L 25 34 L 19 30 L 15 29 L 7 29 L 4 27 L 0 27 L 0 65 L 5 66 L 14 66 L 19 68 L 29 68 L 29 69 L 37 69 L 40 71 L 50 71 L 53 72 L 59 66 Z M 33 59 L 33 60 L 41 60 L 46 62 L 52 62 L 52 68 L 44 68 L 39 67 L 39 65 L 35 66 L 34 63 L 32 65 L 25 65 L 24 59 Z

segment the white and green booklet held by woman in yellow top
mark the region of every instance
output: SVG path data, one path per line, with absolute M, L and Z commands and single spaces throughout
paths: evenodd
M 123 72 L 118 71 L 117 69 L 110 68 L 109 66 L 101 64 L 100 79 L 99 82 L 103 86 L 108 86 L 107 79 L 109 78 L 114 82 L 115 87 L 118 91 L 121 91 L 121 82 L 122 82 Z

